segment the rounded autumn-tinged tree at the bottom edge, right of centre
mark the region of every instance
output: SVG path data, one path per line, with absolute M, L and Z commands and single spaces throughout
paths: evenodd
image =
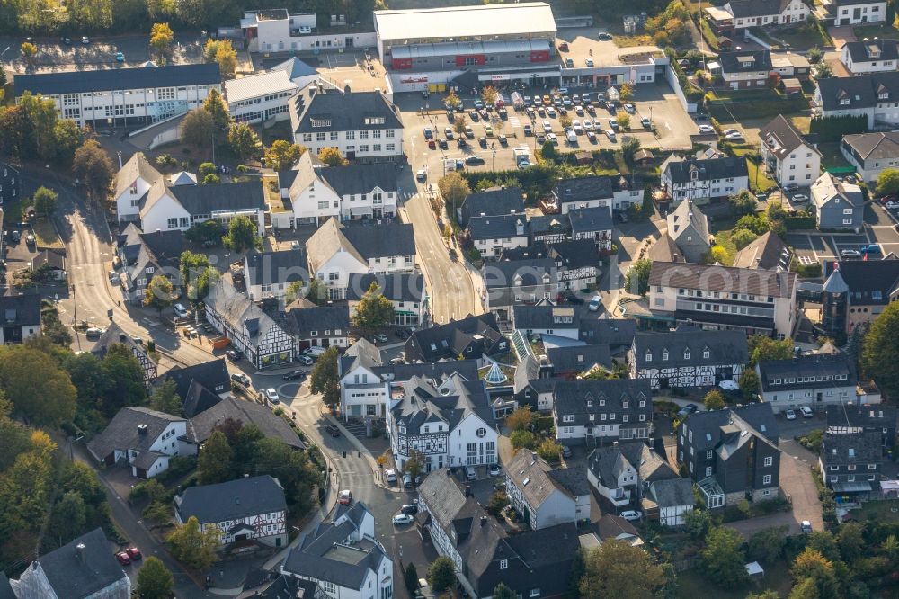
M 587 551 L 581 578 L 583 599 L 644 599 L 664 583 L 662 568 L 640 547 L 625 541 L 603 541 Z

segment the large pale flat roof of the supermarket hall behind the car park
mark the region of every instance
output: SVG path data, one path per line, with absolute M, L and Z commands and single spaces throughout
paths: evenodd
M 446 40 L 495 35 L 556 33 L 556 19 L 545 2 L 451 6 L 405 11 L 375 11 L 381 40 Z

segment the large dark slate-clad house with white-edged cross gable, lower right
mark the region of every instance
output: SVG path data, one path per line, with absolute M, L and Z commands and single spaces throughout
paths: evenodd
M 677 460 L 708 509 L 779 496 L 779 428 L 770 404 L 694 412 L 677 434 Z

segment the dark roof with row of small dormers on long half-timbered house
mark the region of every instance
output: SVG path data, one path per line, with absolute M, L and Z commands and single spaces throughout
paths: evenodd
M 708 358 L 703 354 L 708 350 Z M 690 357 L 685 357 L 686 352 Z M 646 354 L 652 360 L 646 360 Z M 668 353 L 668 360 L 663 360 Z M 640 332 L 634 337 L 637 369 L 679 368 L 715 364 L 745 364 L 749 361 L 746 332 L 743 330 L 705 330 L 681 325 L 674 331 Z

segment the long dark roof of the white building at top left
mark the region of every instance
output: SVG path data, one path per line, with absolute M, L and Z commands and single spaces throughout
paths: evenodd
M 183 85 L 218 85 L 221 71 L 215 62 L 167 67 L 99 68 L 84 71 L 17 75 L 15 94 L 26 91 L 34 94 L 86 94 L 114 90 L 144 89 L 147 82 L 153 87 Z

